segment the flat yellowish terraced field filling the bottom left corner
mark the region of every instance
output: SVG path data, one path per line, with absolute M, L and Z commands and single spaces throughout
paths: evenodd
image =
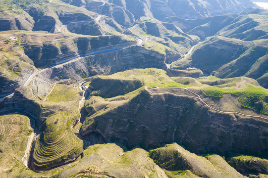
M 28 117 L 0 116 L 0 177 L 12 178 L 29 172 L 23 164 L 23 156 L 32 132 Z

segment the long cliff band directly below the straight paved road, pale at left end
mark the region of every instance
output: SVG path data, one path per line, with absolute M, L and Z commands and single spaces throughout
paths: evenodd
M 86 38 L 80 40 L 87 41 Z M 97 47 L 99 44 L 96 43 L 95 45 Z M 84 49 L 86 46 L 81 45 L 79 47 Z M 139 52 L 137 53 L 137 51 Z M 101 74 L 112 74 L 133 68 L 148 67 L 164 69 L 164 55 L 146 50 L 140 46 L 130 46 L 117 51 L 85 57 L 72 63 L 49 69 L 33 80 L 31 88 L 37 95 L 44 95 L 49 92 L 54 82 L 62 79 L 82 80 L 83 78 Z M 189 76 L 192 74 L 185 75 Z M 198 75 L 195 74 L 195 76 Z

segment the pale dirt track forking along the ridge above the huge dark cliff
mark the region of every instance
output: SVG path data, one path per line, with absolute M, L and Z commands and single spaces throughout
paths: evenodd
M 240 113 L 240 112 L 236 112 L 236 111 L 221 111 L 221 110 L 218 110 L 212 106 L 210 106 L 208 103 L 206 103 L 199 94 L 197 94 L 196 92 L 194 91 L 191 91 L 190 89 L 186 89 L 186 88 L 183 88 L 193 94 L 195 94 L 196 96 L 191 96 L 191 95 L 180 95 L 180 94 L 175 94 L 175 93 L 171 93 L 171 92 L 161 92 L 161 93 L 154 93 L 150 90 L 148 90 L 151 94 L 154 94 L 154 95 L 158 95 L 158 94 L 172 94 L 172 95 L 175 95 L 175 96 L 182 96 L 182 97 L 192 97 L 192 98 L 197 98 L 197 99 L 200 99 L 207 107 L 209 107 L 210 109 L 213 109 L 217 112 L 220 112 L 220 113 L 225 113 L 225 114 L 239 114 L 239 115 L 242 115 L 242 116 L 249 116 L 249 117 L 256 117 L 256 118 L 261 118 L 261 119 L 266 119 L 268 120 L 268 118 L 265 118 L 265 117 L 262 117 L 262 116 L 254 116 L 254 115 L 249 115 L 249 114 L 243 114 L 243 113 Z

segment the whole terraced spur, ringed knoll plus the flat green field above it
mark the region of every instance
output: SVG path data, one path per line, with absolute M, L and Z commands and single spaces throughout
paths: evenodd
M 46 101 L 41 103 L 54 112 L 46 117 L 42 133 L 34 144 L 34 170 L 45 170 L 75 160 L 83 149 L 83 141 L 72 132 L 79 120 L 81 95 L 73 86 L 55 85 Z M 59 105 L 60 104 L 60 105 Z

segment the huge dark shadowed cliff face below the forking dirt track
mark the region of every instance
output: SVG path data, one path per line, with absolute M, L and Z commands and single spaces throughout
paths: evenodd
M 180 94 L 191 96 L 182 91 Z M 99 132 L 108 141 L 124 141 L 129 148 L 174 141 L 192 152 L 210 149 L 217 153 L 254 154 L 268 148 L 266 120 L 219 113 L 204 107 L 196 98 L 169 93 L 141 90 L 136 96 L 119 98 L 104 101 L 92 97 L 87 107 L 91 111 L 93 108 L 95 114 L 87 117 L 81 134 Z

